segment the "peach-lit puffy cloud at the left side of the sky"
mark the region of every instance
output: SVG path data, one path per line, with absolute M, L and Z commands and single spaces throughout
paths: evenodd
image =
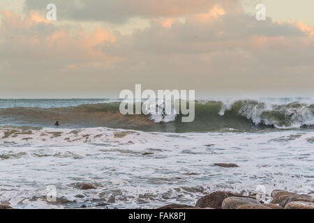
M 4 51 L 15 49 L 15 59 L 27 61 L 43 57 L 63 58 L 63 61 L 67 61 L 68 68 L 75 68 L 75 63 L 103 63 L 103 66 L 110 66 L 112 62 L 119 60 L 106 56 L 97 47 L 103 43 L 116 41 L 110 31 L 96 28 L 87 32 L 80 28 L 55 26 L 36 11 L 31 11 L 24 18 L 12 11 L 3 11 L 1 33 L 5 39 L 4 44 L 0 45 L 1 49 Z

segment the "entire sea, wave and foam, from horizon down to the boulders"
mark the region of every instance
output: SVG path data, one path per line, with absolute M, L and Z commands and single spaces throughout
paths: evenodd
M 191 123 L 179 114 L 166 123 L 151 114 L 123 116 L 120 102 L 0 100 L 0 201 L 157 208 L 195 205 L 216 190 L 248 194 L 257 185 L 267 196 L 314 192 L 313 98 L 197 100 Z M 46 199 L 50 185 L 55 202 Z

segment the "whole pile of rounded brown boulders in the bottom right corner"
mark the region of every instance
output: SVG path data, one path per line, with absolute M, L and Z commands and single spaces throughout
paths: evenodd
M 217 191 L 198 199 L 195 206 L 171 203 L 157 209 L 314 209 L 314 199 L 308 194 L 274 190 L 269 203 L 256 198 Z

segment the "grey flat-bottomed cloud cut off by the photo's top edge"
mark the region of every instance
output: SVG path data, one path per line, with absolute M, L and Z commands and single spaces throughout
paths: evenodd
M 44 11 L 50 0 L 26 0 L 25 10 Z M 237 0 L 54 0 L 59 20 L 123 23 L 132 17 L 182 17 L 207 10 L 219 3 L 237 6 Z M 235 7 L 232 7 L 233 10 Z

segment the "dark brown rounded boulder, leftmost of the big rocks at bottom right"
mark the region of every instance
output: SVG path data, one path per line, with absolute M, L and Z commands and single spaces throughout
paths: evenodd
M 195 207 L 198 208 L 214 208 L 214 209 L 221 209 L 221 204 L 223 200 L 227 197 L 246 197 L 241 194 L 233 194 L 232 192 L 224 192 L 224 191 L 217 191 L 211 194 L 208 194 L 204 197 L 201 197 Z

